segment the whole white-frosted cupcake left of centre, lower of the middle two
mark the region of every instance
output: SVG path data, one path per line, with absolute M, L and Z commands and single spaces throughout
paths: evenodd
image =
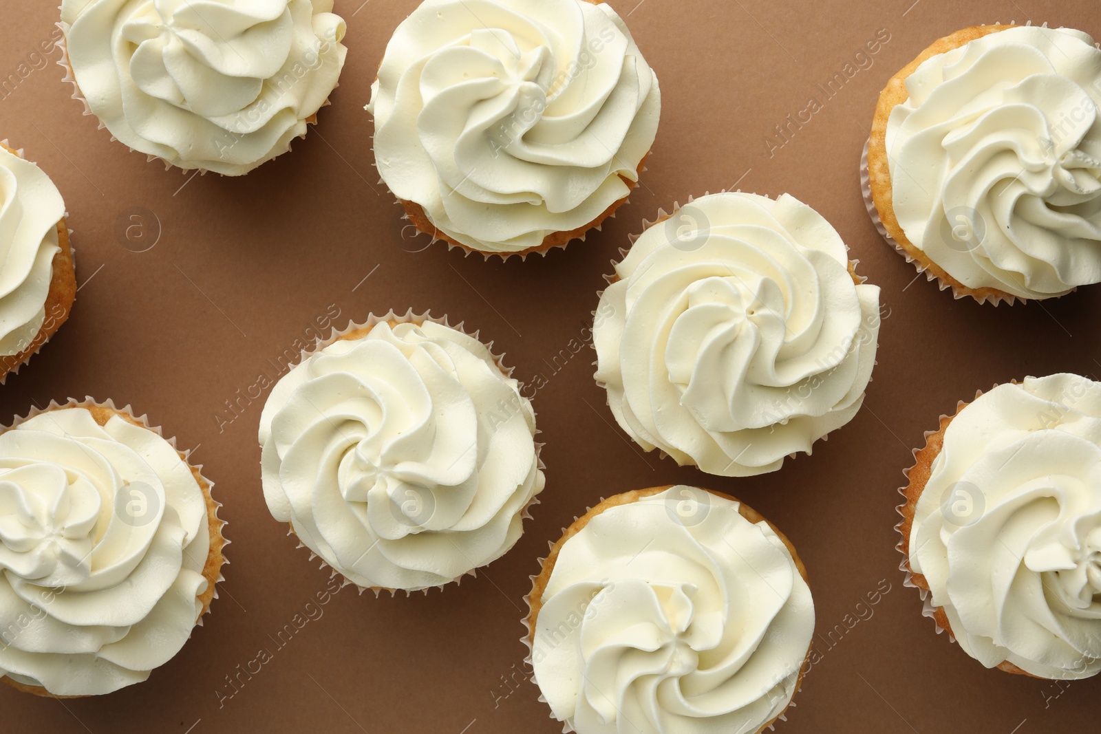
M 360 589 L 426 591 L 500 558 L 544 482 L 510 372 L 446 319 L 350 326 L 268 397 L 268 508 Z

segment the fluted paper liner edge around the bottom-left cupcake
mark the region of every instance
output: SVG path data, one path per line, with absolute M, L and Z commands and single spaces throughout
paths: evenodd
M 149 423 L 149 416 L 142 414 L 135 416 L 133 409 L 129 404 L 120 407 L 116 407 L 115 401 L 108 399 L 106 402 L 99 402 L 91 396 L 86 396 L 83 401 L 77 401 L 74 397 L 68 398 L 65 403 L 58 403 L 57 401 L 51 401 L 50 405 L 42 408 L 37 405 L 33 406 L 25 416 L 15 416 L 11 425 L 0 427 L 0 434 L 12 430 L 22 424 L 26 423 L 31 418 L 42 415 L 43 413 L 50 413 L 52 410 L 62 410 L 66 408 L 88 408 L 90 410 L 99 409 L 111 415 L 118 415 L 122 417 L 128 423 L 135 426 L 140 426 L 146 430 L 151 430 L 161 438 L 163 438 L 167 443 L 175 449 L 176 453 L 179 454 L 181 460 L 190 469 L 192 474 L 195 476 L 195 481 L 198 483 L 199 487 L 203 490 L 203 494 L 206 499 L 207 504 L 207 523 L 209 525 L 210 532 L 210 550 L 207 555 L 207 560 L 203 569 L 203 576 L 207 580 L 207 589 L 201 594 L 197 596 L 198 600 L 203 602 L 203 609 L 199 611 L 198 616 L 195 620 L 195 626 L 203 626 L 203 617 L 210 612 L 210 604 L 215 599 L 218 599 L 218 584 L 226 580 L 221 573 L 224 566 L 229 563 L 229 560 L 225 556 L 226 546 L 230 544 L 222 534 L 228 523 L 220 517 L 218 517 L 218 511 L 221 508 L 221 503 L 214 499 L 214 482 L 210 481 L 206 475 L 203 474 L 203 464 L 193 464 L 189 461 L 192 449 L 181 450 L 176 446 L 176 437 L 165 438 L 164 432 L 160 426 L 152 426 Z M 96 417 L 95 415 L 92 417 Z M 102 416 L 101 416 L 102 417 Z M 99 423 L 99 419 L 96 420 Z M 105 420 L 106 423 L 106 420 Z M 100 424 L 103 425 L 103 424 Z M 8 678 L 7 676 L 0 678 L 0 681 L 21 690 L 26 693 L 33 693 L 42 698 L 52 699 L 81 699 L 91 698 L 89 695 L 55 695 L 46 691 L 45 688 L 37 686 L 26 686 L 18 681 Z

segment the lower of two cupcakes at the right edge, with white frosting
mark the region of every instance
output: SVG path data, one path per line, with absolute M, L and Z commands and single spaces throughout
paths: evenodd
M 926 435 L 898 510 L 907 585 L 988 668 L 1101 671 L 1101 383 L 1027 377 Z

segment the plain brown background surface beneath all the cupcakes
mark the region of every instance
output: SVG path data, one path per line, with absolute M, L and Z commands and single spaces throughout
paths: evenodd
M 612 0 L 662 81 L 650 169 L 603 232 L 546 259 L 508 263 L 403 239 L 400 208 L 372 167 L 372 122 L 362 107 L 386 41 L 416 3 L 361 2 L 337 0 L 348 62 L 320 124 L 292 154 L 244 178 L 192 179 L 111 142 L 69 99 L 56 51 L 47 67 L 0 92 L 0 138 L 24 147 L 65 196 L 81 284 L 69 322 L 0 387 L 0 421 L 70 395 L 132 403 L 182 447 L 198 447 L 195 460 L 217 484 L 233 541 L 206 626 L 148 682 L 65 702 L 0 687 L 2 731 L 559 732 L 525 680 L 517 642 L 536 557 L 599 497 L 676 482 L 742 497 L 806 561 L 824 659 L 780 725 L 786 734 L 1095 730 L 1101 680 L 1064 691 L 985 670 L 935 635 L 916 591 L 902 585 L 892 528 L 911 449 L 957 399 L 1028 374 L 1101 375 L 1101 286 L 1012 308 L 955 302 L 924 277 L 914 282 L 914 269 L 879 239 L 857 174 L 879 89 L 933 40 L 1010 20 L 1101 36 L 1093 0 Z M 0 79 L 18 74 L 57 14 L 56 2 L 43 0 L 8 0 L 6 9 Z M 806 108 L 820 95 L 816 85 L 853 62 L 880 29 L 891 40 L 874 65 L 770 157 L 764 140 L 773 127 Z M 770 196 L 788 191 L 825 215 L 861 260 L 860 272 L 882 286 L 885 316 L 879 366 L 857 418 L 813 457 L 750 480 L 644 456 L 614 427 L 592 382 L 590 350 L 553 366 L 591 321 L 601 275 L 642 218 L 735 183 Z M 146 252 L 117 237 L 133 207 L 155 216 L 145 215 L 145 242 L 156 241 Z M 330 305 L 341 326 L 391 307 L 448 314 L 494 340 L 521 380 L 542 373 L 548 384 L 535 408 L 547 487 L 520 544 L 488 573 L 427 596 L 377 600 L 346 589 L 280 649 L 270 635 L 303 612 L 328 573 L 295 549 L 264 505 L 257 446 L 264 396 L 228 425 L 218 416 L 233 418 L 227 401 L 261 374 L 277 376 L 279 355 L 312 339 L 310 325 Z M 858 604 L 881 580 L 890 591 L 871 618 L 827 642 L 846 615 L 869 609 Z M 261 647 L 273 659 L 219 701 L 217 691 L 232 692 L 226 676 Z

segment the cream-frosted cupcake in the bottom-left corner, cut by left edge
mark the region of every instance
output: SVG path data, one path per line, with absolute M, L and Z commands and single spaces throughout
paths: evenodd
M 0 679 L 74 698 L 139 683 L 217 596 L 210 482 L 130 408 L 69 401 L 0 434 Z

